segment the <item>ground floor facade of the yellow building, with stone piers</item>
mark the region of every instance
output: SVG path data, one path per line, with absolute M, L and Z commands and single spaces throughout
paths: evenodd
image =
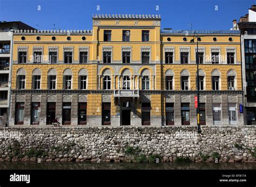
M 197 126 L 195 94 L 12 93 L 9 126 Z M 242 95 L 201 94 L 201 125 L 244 125 Z M 57 120 L 57 121 L 56 121 Z

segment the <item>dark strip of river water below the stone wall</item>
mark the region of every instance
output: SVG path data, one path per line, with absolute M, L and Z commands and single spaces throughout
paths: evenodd
M 0 162 L 0 169 L 256 169 L 256 163 Z

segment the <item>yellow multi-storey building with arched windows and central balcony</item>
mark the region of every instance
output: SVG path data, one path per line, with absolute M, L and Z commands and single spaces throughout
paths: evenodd
M 10 126 L 243 125 L 239 31 L 160 30 L 96 15 L 92 31 L 15 31 Z M 197 41 L 197 39 L 195 39 Z

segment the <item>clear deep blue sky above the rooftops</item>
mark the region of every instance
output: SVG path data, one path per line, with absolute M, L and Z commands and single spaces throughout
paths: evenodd
M 195 30 L 229 30 L 252 4 L 255 0 L 0 0 L 0 20 L 20 20 L 40 30 L 87 30 L 96 13 L 160 14 L 162 29 L 187 30 L 192 23 Z

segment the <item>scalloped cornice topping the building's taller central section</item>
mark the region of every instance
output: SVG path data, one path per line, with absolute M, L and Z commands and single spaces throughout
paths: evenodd
M 92 15 L 92 18 L 143 18 L 143 19 L 153 19 L 161 18 L 160 15 Z

